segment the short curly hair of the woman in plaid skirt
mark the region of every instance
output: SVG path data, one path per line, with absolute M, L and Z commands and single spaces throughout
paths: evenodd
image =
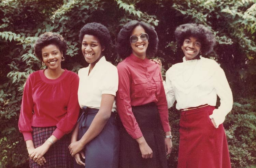
M 47 45 L 56 45 L 63 56 L 66 55 L 67 51 L 67 42 L 66 40 L 58 33 L 45 32 L 39 36 L 39 39 L 34 44 L 35 56 L 39 60 L 43 61 L 42 58 L 42 49 Z

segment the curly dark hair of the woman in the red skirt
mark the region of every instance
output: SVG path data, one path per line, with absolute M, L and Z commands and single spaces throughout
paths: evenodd
M 174 34 L 179 47 L 183 45 L 186 38 L 197 38 L 201 43 L 202 54 L 207 54 L 210 52 L 216 42 L 213 32 L 201 24 L 180 25 L 176 28 Z

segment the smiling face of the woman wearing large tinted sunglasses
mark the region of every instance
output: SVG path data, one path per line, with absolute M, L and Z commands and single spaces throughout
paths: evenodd
M 142 26 L 137 26 L 133 29 L 131 36 L 136 35 L 140 37 L 142 33 L 146 33 L 145 29 Z M 140 38 L 136 43 L 130 43 L 132 54 L 135 55 L 138 58 L 144 59 L 146 57 L 146 50 L 148 46 L 148 40 L 142 41 Z

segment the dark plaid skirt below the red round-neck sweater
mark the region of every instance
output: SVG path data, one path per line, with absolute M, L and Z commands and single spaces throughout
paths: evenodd
M 32 137 L 34 147 L 41 146 L 55 131 L 56 126 L 52 127 L 32 127 Z M 33 159 L 29 159 L 30 168 L 72 168 L 73 159 L 69 153 L 71 134 L 64 135 L 60 140 L 54 143 L 44 154 L 46 163 L 40 166 Z

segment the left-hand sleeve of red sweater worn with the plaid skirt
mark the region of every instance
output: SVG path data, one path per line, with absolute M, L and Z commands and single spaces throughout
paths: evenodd
M 24 87 L 18 122 L 19 131 L 23 134 L 25 141 L 32 140 L 31 118 L 33 115 L 32 111 L 34 106 L 32 98 L 32 81 L 33 74 L 30 74 Z

